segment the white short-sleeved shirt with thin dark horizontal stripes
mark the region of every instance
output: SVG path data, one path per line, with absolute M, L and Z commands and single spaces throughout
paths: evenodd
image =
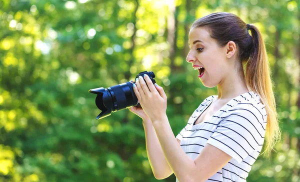
M 217 95 L 211 95 L 203 100 L 176 138 L 181 140 L 181 148 L 193 160 L 206 143 L 232 156 L 206 181 L 246 181 L 262 148 L 266 110 L 259 96 L 249 91 L 229 100 L 207 120 L 193 125 L 216 98 Z

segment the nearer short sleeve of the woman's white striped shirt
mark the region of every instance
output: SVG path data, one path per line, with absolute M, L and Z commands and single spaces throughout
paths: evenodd
M 265 124 L 263 117 L 253 108 L 232 109 L 221 117 L 207 143 L 240 163 L 263 144 Z

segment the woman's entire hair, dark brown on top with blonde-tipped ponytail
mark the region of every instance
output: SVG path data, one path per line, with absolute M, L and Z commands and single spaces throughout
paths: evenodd
M 201 26 L 208 27 L 210 37 L 214 38 L 219 46 L 224 46 L 230 40 L 237 44 L 238 57 L 245 65 L 246 85 L 260 96 L 266 109 L 266 145 L 264 145 L 263 153 L 269 154 L 274 144 L 280 139 L 280 129 L 269 64 L 261 33 L 253 24 L 246 24 L 237 15 L 228 12 L 216 12 L 201 17 L 193 22 L 191 28 Z

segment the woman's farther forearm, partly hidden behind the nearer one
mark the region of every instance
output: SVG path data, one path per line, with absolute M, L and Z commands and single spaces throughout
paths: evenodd
M 147 156 L 152 172 L 157 179 L 165 178 L 172 174 L 172 171 L 163 155 L 154 127 L 150 120 L 143 120 L 143 127 Z

